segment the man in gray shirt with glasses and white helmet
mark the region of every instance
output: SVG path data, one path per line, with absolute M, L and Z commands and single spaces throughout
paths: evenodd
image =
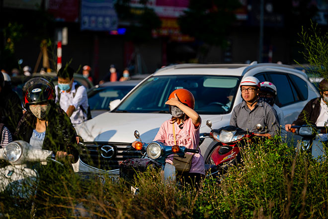
M 276 113 L 266 102 L 258 102 L 260 83 L 257 78 L 245 77 L 240 85 L 243 103 L 237 105 L 231 115 L 230 125 L 251 131 L 260 123 L 262 131 L 257 136 L 273 137 L 279 130 Z

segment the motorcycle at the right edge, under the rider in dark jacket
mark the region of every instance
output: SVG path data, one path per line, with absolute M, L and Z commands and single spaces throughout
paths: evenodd
M 302 137 L 296 148 L 312 154 L 315 159 L 324 156 L 326 152 L 323 142 L 327 142 L 328 139 L 321 134 L 327 134 L 327 129 L 328 126 L 293 125 L 291 131 Z

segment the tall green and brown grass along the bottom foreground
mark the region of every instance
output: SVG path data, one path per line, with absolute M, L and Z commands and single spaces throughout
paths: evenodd
M 139 194 L 121 180 L 81 179 L 48 169 L 34 200 L 35 218 L 328 218 L 328 164 L 277 139 L 250 145 L 244 164 L 221 178 L 206 178 L 200 191 L 164 183 L 163 173 L 136 177 Z M 56 173 L 57 171 L 57 173 Z M 30 218 L 31 208 L 0 196 L 5 218 Z

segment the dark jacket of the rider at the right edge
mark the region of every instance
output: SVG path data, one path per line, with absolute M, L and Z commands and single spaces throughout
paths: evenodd
M 318 116 L 320 114 L 320 99 L 315 98 L 309 101 L 301 113 L 298 115 L 298 118 L 293 122 L 295 125 L 304 125 L 307 124 L 307 121 L 310 124 L 316 124 Z

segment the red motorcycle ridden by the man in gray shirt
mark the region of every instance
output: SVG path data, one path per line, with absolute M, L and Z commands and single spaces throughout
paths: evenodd
M 251 131 L 243 130 L 239 127 L 228 125 L 219 129 L 212 129 L 212 122 L 206 121 L 206 125 L 211 129 L 210 133 L 204 133 L 203 137 L 210 137 L 219 142 L 212 150 L 205 161 L 205 171 L 214 171 L 213 174 L 225 174 L 228 168 L 241 162 L 241 148 L 252 142 L 254 130 L 261 131 L 261 124 L 256 124 Z

